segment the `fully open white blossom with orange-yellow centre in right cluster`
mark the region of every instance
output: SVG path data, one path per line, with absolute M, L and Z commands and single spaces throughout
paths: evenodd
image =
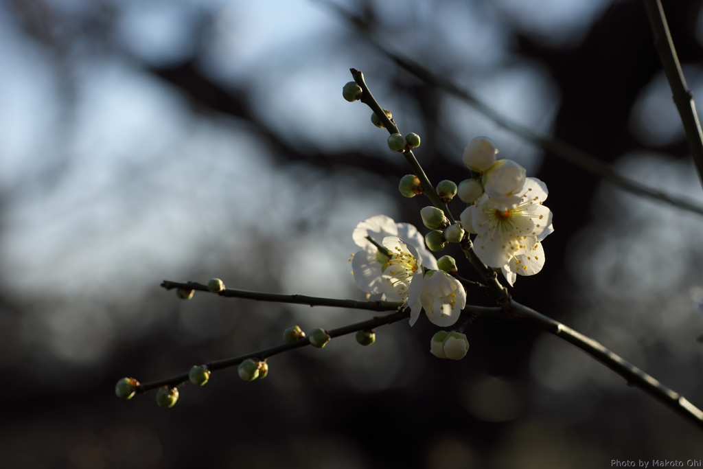
M 531 257 L 528 253 L 535 248 L 541 250 L 538 241 L 553 231 L 552 212 L 542 205 L 547 187 L 539 179 L 527 178 L 518 194 L 494 198 L 484 193 L 461 214 L 461 221 L 477 233 L 474 248 L 481 262 L 499 269 L 506 266 L 511 272 L 515 268 L 521 275 L 528 271 L 536 274 L 543 265 L 543 251 L 541 256 L 537 254 L 539 259 L 527 259 Z M 522 265 L 517 264 L 518 260 Z M 538 263 L 522 269 L 524 262 L 533 260 Z

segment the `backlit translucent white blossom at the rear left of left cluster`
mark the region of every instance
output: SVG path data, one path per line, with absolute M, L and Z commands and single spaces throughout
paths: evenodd
M 425 238 L 415 226 L 408 223 L 396 223 L 385 215 L 370 217 L 356 225 L 352 233 L 354 243 L 363 248 L 352 255 L 354 280 L 359 290 L 368 293 L 368 295 L 382 295 L 388 288 L 388 285 L 384 285 L 382 274 L 388 266 L 389 258 L 379 252 L 378 247 L 371 243 L 366 238 L 367 236 L 380 245 L 382 245 L 384 238 L 399 237 L 404 240 L 404 243 L 415 248 L 421 264 L 427 269 L 437 269 L 437 259 L 434 259 L 434 256 L 425 248 Z M 386 245 L 384 247 L 390 248 Z

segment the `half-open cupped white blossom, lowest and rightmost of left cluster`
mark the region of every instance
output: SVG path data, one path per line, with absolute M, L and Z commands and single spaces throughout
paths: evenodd
M 420 316 L 420 306 L 425 309 L 427 319 L 439 327 L 456 323 L 461 310 L 466 306 L 466 290 L 463 285 L 441 270 L 430 270 L 420 278 L 413 278 L 409 292 L 411 326 Z

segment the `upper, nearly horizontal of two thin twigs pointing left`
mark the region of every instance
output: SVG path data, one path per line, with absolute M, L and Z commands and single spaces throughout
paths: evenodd
M 167 290 L 183 288 L 183 290 L 198 290 L 212 293 L 207 289 L 207 285 L 197 282 L 178 283 L 165 280 L 161 286 Z M 402 302 L 337 300 L 335 298 L 309 297 L 307 295 L 280 295 L 279 293 L 252 292 L 249 290 L 236 290 L 234 288 L 225 288 L 221 292 L 216 293 L 216 295 L 275 303 L 309 304 L 310 307 L 330 306 L 337 308 L 368 309 L 370 311 L 392 311 L 403 306 Z

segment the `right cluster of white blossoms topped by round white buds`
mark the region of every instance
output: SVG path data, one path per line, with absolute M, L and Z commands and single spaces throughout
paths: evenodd
M 473 139 L 464 150 L 465 166 L 480 177 L 459 186 L 460 198 L 471 204 L 460 219 L 466 231 L 476 233 L 479 259 L 501 269 L 513 285 L 517 275 L 534 275 L 544 266 L 542 240 L 554 231 L 552 212 L 543 205 L 546 184 L 525 177 L 524 167 L 512 160 L 496 160 L 496 153 L 485 137 Z M 470 192 L 467 197 L 462 197 L 462 185 Z

